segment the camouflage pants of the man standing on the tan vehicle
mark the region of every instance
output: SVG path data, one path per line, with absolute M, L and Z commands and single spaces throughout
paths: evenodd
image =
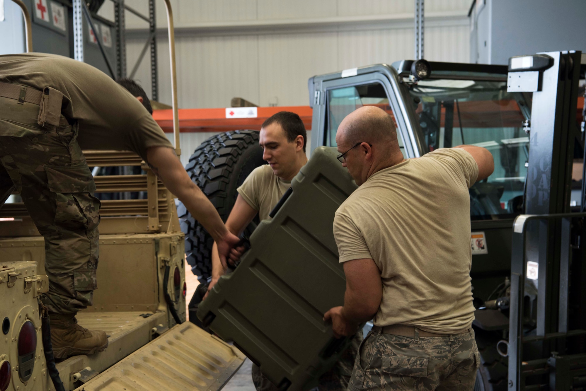
M 45 238 L 43 303 L 53 313 L 76 313 L 91 306 L 96 289 L 100 201 L 77 124 L 61 116 L 58 126 L 40 126 L 39 108 L 0 97 L 0 202 L 14 185 Z

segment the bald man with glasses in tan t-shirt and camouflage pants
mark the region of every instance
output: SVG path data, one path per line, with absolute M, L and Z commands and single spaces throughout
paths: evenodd
M 342 336 L 374 317 L 348 389 L 472 390 L 468 189 L 493 172 L 492 155 L 461 145 L 404 159 L 392 119 L 372 106 L 346 116 L 336 143 L 359 188 L 333 224 L 344 306 L 324 318 Z

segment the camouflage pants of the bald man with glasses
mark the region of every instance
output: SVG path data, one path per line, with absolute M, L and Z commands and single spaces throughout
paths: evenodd
M 348 390 L 472 391 L 479 363 L 472 328 L 415 338 L 371 331 L 356 356 Z

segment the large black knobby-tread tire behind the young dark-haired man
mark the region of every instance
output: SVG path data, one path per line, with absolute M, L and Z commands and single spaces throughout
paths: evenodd
M 225 222 L 236 202 L 236 189 L 248 174 L 264 163 L 258 131 L 231 131 L 205 140 L 189 157 L 185 170 Z M 205 282 L 212 276 L 214 241 L 183 203 L 179 203 L 177 212 L 181 231 L 185 233 L 187 262 L 200 282 Z M 254 229 L 254 222 L 251 225 L 253 227 L 248 227 L 247 231 Z

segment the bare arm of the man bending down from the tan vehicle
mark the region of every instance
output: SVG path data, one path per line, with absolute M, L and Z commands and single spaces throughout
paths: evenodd
M 185 205 L 190 214 L 199 221 L 214 241 L 219 244 L 222 258 L 228 256 L 230 249 L 239 239 L 232 234 L 222 222 L 216 208 L 210 203 L 206 195 L 191 181 L 183 168 L 175 150 L 163 146 L 147 149 L 149 167 L 171 191 Z

